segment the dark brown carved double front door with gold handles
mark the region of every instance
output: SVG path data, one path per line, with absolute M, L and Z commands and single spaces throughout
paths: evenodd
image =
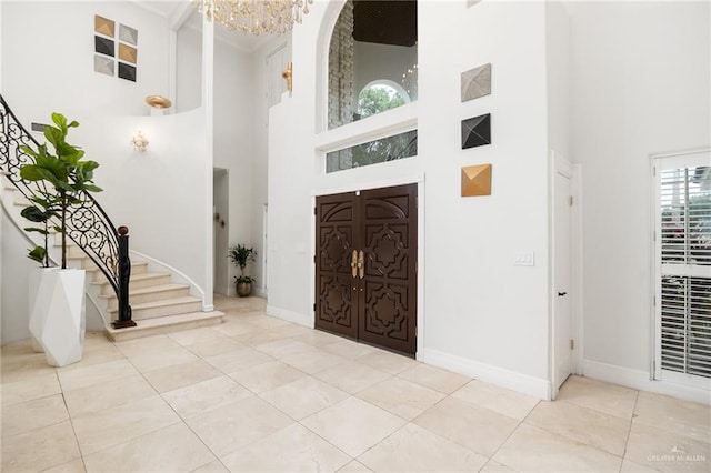
M 316 201 L 316 328 L 414 355 L 417 184 Z

